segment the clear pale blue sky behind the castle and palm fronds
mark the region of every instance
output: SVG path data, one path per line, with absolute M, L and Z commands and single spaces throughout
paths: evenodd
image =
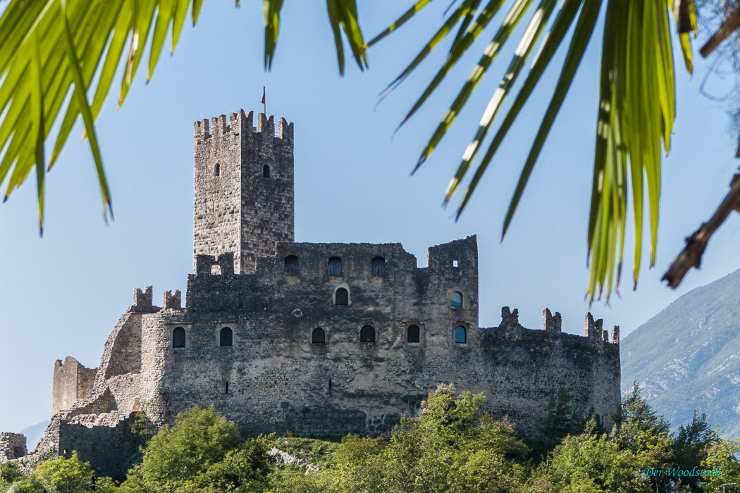
M 409 3 L 360 1 L 366 36 Z M 519 309 L 525 327 L 539 328 L 542 308 L 550 307 L 562 313 L 563 330 L 582 334 L 600 33 L 499 243 L 556 73 L 548 72 L 468 210 L 454 222 L 454 208 L 440 207 L 443 192 L 504 67 L 484 79 L 432 159 L 413 177 L 409 172 L 492 34 L 394 138 L 445 47 L 375 107 L 377 92 L 416 54 L 429 27 L 440 24 L 448 2 L 436 3 L 373 47 L 368 71 L 348 61 L 340 78 L 323 2 L 286 2 L 269 73 L 263 70 L 260 2 L 245 1 L 239 9 L 228 1 L 206 2 L 198 26 L 186 26 L 175 55 L 162 56 L 152 81 L 147 85 L 141 72 L 124 106 L 115 109 L 115 94 L 98 118 L 115 211 L 109 225 L 78 124 L 48 175 L 44 237 L 38 237 L 33 180 L 0 207 L 0 430 L 50 417 L 55 359 L 73 356 L 98 366 L 104 341 L 131 304 L 132 288 L 153 285 L 157 303 L 163 290 L 184 290 L 192 272 L 192 122 L 240 108 L 261 110 L 262 86 L 267 112 L 295 123 L 297 241 L 402 242 L 423 265 L 428 246 L 477 234 L 482 327 L 498 325 L 501 307 L 510 306 Z M 677 62 L 677 120 L 664 161 L 656 268 L 644 263 L 636 292 L 625 282 L 609 307 L 591 307 L 606 327 L 619 324 L 622 335 L 687 290 L 740 268 L 740 221 L 730 217 L 710 242 L 702 270 L 690 273 L 682 288 L 669 290 L 659 280 L 684 237 L 713 212 L 737 168 L 727 107 L 699 92 L 707 63 L 697 61 L 689 78 Z M 719 93 L 729 84 L 713 83 Z M 625 255 L 631 258 L 629 240 Z

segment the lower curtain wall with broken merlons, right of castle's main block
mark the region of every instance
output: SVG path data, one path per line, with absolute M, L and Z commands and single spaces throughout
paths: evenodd
M 536 437 L 548 401 L 562 386 L 576 409 L 587 414 L 593 408 L 610 426 L 620 402 L 619 345 L 562 333 L 559 313 L 549 326 L 545 313 L 543 330 L 529 330 L 519 324 L 517 310 L 504 307 L 499 327 L 481 330 L 481 358 L 471 364 L 489 389 L 485 409 Z

